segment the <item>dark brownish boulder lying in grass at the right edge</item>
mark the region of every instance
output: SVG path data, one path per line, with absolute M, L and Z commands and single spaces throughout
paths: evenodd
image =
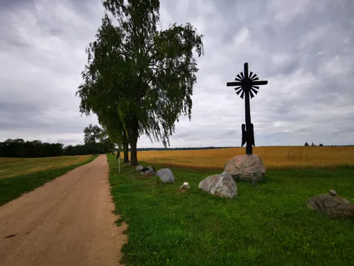
M 306 201 L 309 209 L 318 211 L 330 218 L 354 218 L 354 204 L 338 196 L 331 189 L 329 194 L 320 194 L 313 196 Z

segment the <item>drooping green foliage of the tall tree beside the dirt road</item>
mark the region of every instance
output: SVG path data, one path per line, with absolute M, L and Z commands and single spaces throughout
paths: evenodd
M 178 116 L 190 118 L 198 72 L 193 50 L 203 54 L 202 35 L 190 23 L 157 30 L 158 0 L 108 0 L 103 5 L 115 23 L 103 17 L 97 39 L 86 49 L 84 82 L 76 95 L 81 113 L 96 113 L 109 134 L 126 133 L 136 159 L 139 135 L 166 147 Z

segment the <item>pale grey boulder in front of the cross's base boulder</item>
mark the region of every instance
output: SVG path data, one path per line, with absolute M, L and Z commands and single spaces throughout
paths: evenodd
M 237 196 L 237 187 L 234 178 L 228 172 L 211 175 L 200 181 L 200 189 L 216 196 L 233 198 Z

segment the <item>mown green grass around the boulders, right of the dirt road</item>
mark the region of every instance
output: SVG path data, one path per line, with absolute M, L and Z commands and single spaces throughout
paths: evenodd
M 219 172 L 171 168 L 175 184 L 142 178 L 108 155 L 118 224 L 128 224 L 125 265 L 354 265 L 354 221 L 331 220 L 305 202 L 330 188 L 354 201 L 354 170 L 268 170 L 222 199 L 198 189 Z M 160 169 L 154 165 L 156 170 Z M 189 182 L 191 189 L 178 188 Z

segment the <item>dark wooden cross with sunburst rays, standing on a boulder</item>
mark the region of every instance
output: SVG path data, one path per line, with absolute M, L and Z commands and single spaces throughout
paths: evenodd
M 251 123 L 251 109 L 249 106 L 249 96 L 253 98 L 258 93 L 259 86 L 257 85 L 266 85 L 268 81 L 258 80 L 256 73 L 249 73 L 249 64 L 244 63 L 244 72 L 240 72 L 236 75 L 236 82 L 227 82 L 227 86 L 235 87 L 236 94 L 240 95 L 241 99 L 244 99 L 245 96 L 245 120 L 246 125 L 243 123 L 241 126 L 242 129 L 242 141 L 241 147 L 246 143 L 246 154 L 252 154 L 252 145 L 254 145 L 254 131 L 253 123 Z

